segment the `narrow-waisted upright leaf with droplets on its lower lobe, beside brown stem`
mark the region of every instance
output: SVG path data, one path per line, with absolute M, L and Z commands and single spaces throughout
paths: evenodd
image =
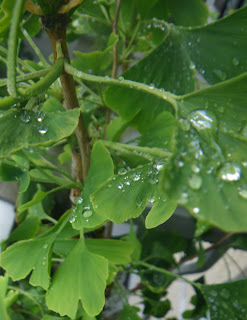
M 114 174 L 111 155 L 101 141 L 97 141 L 92 149 L 90 169 L 84 189 L 74 209 L 71 222 L 73 228 L 93 228 L 102 224 L 106 217 L 102 217 L 92 206 L 89 196 Z

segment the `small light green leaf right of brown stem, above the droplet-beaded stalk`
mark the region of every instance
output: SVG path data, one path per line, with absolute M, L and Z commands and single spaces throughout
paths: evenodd
M 91 69 L 96 74 L 105 70 L 111 64 L 112 48 L 117 42 L 118 36 L 112 33 L 108 40 L 107 48 L 104 51 L 93 51 L 90 53 L 74 51 L 77 58 L 72 61 L 73 67 L 85 72 Z

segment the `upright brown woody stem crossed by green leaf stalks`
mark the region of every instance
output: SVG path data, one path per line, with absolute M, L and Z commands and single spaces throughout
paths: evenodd
M 61 49 L 64 57 L 70 62 L 70 55 L 66 41 L 66 30 L 70 19 L 65 14 L 56 14 L 53 16 L 43 16 L 41 17 L 42 27 L 46 30 L 54 55 L 54 59 L 57 58 L 57 43 L 61 44 Z M 73 77 L 64 72 L 60 76 L 63 95 L 65 100 L 65 106 L 67 109 L 74 109 L 79 107 L 79 102 L 76 95 L 75 83 Z M 90 141 L 87 132 L 87 128 L 84 124 L 82 116 L 79 118 L 78 126 L 75 130 L 75 134 L 78 140 L 79 153 L 81 157 L 80 162 L 77 163 L 79 168 L 73 170 L 76 172 L 77 176 L 73 177 L 75 179 L 81 180 L 83 183 L 86 180 L 89 165 L 90 165 Z

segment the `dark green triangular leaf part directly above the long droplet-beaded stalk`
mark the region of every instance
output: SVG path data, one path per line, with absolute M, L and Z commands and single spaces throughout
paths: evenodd
M 127 70 L 123 77 L 147 85 L 153 84 L 156 88 L 163 88 L 175 94 L 191 92 L 194 90 L 194 70 L 190 56 L 177 30 L 170 28 L 166 33 L 165 40 Z M 115 90 L 120 95 L 124 89 Z M 105 97 L 108 98 L 112 91 L 113 89 L 108 89 Z

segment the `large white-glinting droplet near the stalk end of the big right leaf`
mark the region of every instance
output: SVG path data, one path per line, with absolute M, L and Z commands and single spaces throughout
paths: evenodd
M 192 126 L 200 133 L 206 141 L 212 140 L 212 135 L 217 130 L 216 116 L 208 110 L 196 110 L 190 114 Z

